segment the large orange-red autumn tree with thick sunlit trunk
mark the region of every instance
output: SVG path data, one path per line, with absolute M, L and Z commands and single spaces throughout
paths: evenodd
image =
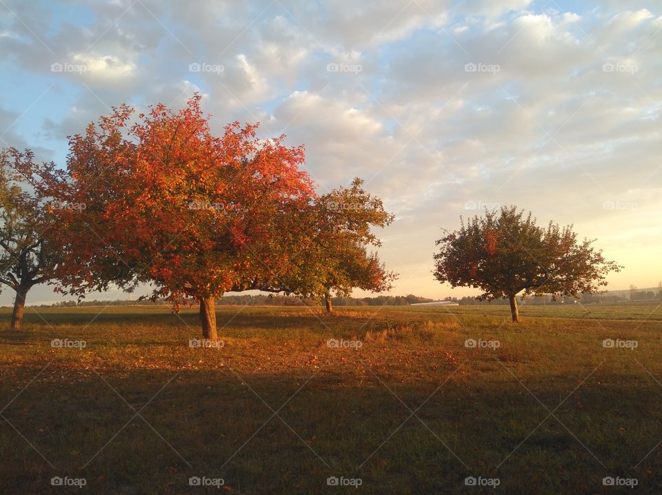
M 57 278 L 71 294 L 134 290 L 200 303 L 205 339 L 217 339 L 214 301 L 224 292 L 281 290 L 296 219 L 314 203 L 303 147 L 260 140 L 257 125 L 210 132 L 200 97 L 172 112 L 126 105 L 70 138 L 66 173 L 34 166 L 43 196 L 84 208 L 51 213 L 62 228 Z M 137 118 L 136 118 L 137 117 Z

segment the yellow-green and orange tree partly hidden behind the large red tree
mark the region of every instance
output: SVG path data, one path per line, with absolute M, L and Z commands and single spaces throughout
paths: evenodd
M 363 189 L 361 179 L 319 196 L 299 214 L 303 236 L 292 240 L 296 267 L 283 280 L 288 292 L 323 299 L 330 314 L 333 295 L 349 296 L 354 288 L 390 290 L 397 275 L 385 269 L 372 248 L 381 246 L 374 228 L 390 225 L 394 216 Z

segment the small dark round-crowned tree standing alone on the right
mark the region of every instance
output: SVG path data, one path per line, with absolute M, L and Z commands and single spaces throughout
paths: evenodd
M 607 285 L 605 275 L 621 265 L 605 261 L 594 240 L 578 241 L 572 225 L 547 228 L 516 207 L 485 212 L 437 241 L 434 276 L 452 287 L 474 287 L 478 299 L 510 301 L 512 321 L 519 321 L 516 295 L 578 296 Z M 602 291 L 603 292 L 603 291 Z

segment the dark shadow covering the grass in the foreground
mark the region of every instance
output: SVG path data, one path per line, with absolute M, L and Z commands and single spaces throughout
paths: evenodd
M 465 486 L 474 476 L 498 478 L 509 494 L 580 485 L 596 493 L 611 474 L 657 493 L 646 469 L 659 466 L 659 450 L 634 468 L 662 439 L 655 390 L 591 381 L 581 408 L 573 396 L 555 412 L 559 423 L 543 422 L 548 411 L 516 382 L 501 390 L 452 378 L 439 389 L 441 381 L 377 378 L 358 386 L 351 367 L 99 374 L 60 366 L 19 396 L 26 383 L 3 379 L 0 404 L 15 400 L 0 418 L 0 492 L 50 492 L 53 476 L 85 478 L 99 494 L 219 493 L 191 487 L 193 476 L 222 478 L 239 494 L 492 492 Z M 572 381 L 534 393 L 552 409 L 569 390 Z M 361 486 L 329 486 L 330 476 Z

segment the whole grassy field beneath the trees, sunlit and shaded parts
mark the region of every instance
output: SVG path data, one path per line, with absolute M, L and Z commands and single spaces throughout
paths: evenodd
M 0 310 L 1 494 L 662 492 L 656 305 L 102 309 Z

